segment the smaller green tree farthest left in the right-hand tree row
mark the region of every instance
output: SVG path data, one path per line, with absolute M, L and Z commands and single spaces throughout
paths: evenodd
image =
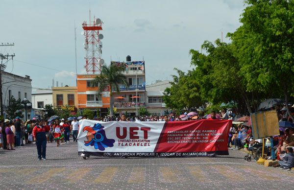
M 201 105 L 201 97 L 199 95 L 199 84 L 196 80 L 196 73 L 188 71 L 185 73 L 178 69 L 177 75 L 172 75 L 172 87 L 164 91 L 163 100 L 167 107 L 181 111 L 183 109 L 190 111 L 192 108 Z

